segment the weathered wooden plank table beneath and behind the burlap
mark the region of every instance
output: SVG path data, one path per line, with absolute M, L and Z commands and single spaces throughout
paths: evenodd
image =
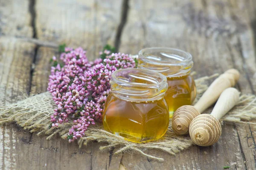
M 193 55 L 195 78 L 241 72 L 238 88 L 256 91 L 255 0 L 0 0 L 0 105 L 15 102 L 24 92 L 47 90 L 49 59 L 58 44 L 82 46 L 93 59 L 106 43 L 117 51 L 137 54 L 145 47 L 166 46 Z M 117 170 L 256 168 L 256 127 L 224 125 L 218 143 L 193 146 L 169 155 L 114 155 L 102 144 L 79 149 L 55 136 L 50 141 L 17 125 L 0 128 L 0 169 Z

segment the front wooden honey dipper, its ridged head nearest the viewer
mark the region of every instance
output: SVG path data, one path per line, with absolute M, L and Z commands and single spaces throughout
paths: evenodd
M 199 146 L 209 146 L 218 141 L 221 136 L 221 119 L 239 102 L 239 91 L 227 88 L 218 99 L 211 114 L 201 114 L 195 117 L 189 127 L 192 141 Z

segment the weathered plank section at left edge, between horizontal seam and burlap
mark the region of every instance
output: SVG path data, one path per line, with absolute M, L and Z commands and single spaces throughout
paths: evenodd
M 1 105 L 16 102 L 29 91 L 35 45 L 16 38 L 0 37 Z

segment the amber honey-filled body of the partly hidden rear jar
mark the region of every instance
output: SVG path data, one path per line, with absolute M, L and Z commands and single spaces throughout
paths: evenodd
M 170 118 L 183 105 L 191 105 L 196 96 L 194 79 L 191 76 L 167 77 L 168 90 L 165 99 L 169 106 Z

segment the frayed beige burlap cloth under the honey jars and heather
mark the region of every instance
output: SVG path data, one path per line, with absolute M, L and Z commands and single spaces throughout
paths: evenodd
M 214 74 L 210 77 L 201 77 L 195 80 L 198 91 L 197 99 L 200 98 L 208 88 L 207 82 L 209 82 L 209 79 L 217 76 L 218 74 Z M 65 123 L 58 128 L 49 129 L 49 125 L 51 124 L 49 122 L 49 117 L 53 113 L 55 107 L 56 105 L 49 92 L 34 95 L 15 104 L 1 106 L 0 125 L 15 122 L 25 130 L 37 133 L 38 135 L 47 135 L 47 139 L 51 139 L 51 137 L 57 133 L 61 138 L 65 139 L 72 123 Z M 205 113 L 210 113 L 211 110 L 212 109 L 208 109 Z M 250 123 L 255 125 L 256 123 L 247 122 L 255 118 L 256 96 L 252 94 L 242 94 L 238 105 L 227 113 L 222 120 L 224 122 Z M 83 144 L 86 145 L 90 141 L 104 142 L 106 145 L 100 147 L 100 150 L 106 148 L 113 149 L 116 147 L 119 148 L 115 152 L 116 154 L 137 151 L 148 158 L 163 161 L 163 158 L 147 154 L 146 150 L 158 149 L 174 155 L 180 150 L 187 149 L 192 145 L 189 136 L 178 136 L 172 131 L 171 123 L 172 121 L 170 121 L 169 128 L 163 138 L 157 141 L 141 144 L 125 141 L 122 137 L 115 136 L 105 131 L 101 124 L 96 124 L 88 128 L 85 132 L 86 137 L 79 139 L 78 143 L 81 147 Z

